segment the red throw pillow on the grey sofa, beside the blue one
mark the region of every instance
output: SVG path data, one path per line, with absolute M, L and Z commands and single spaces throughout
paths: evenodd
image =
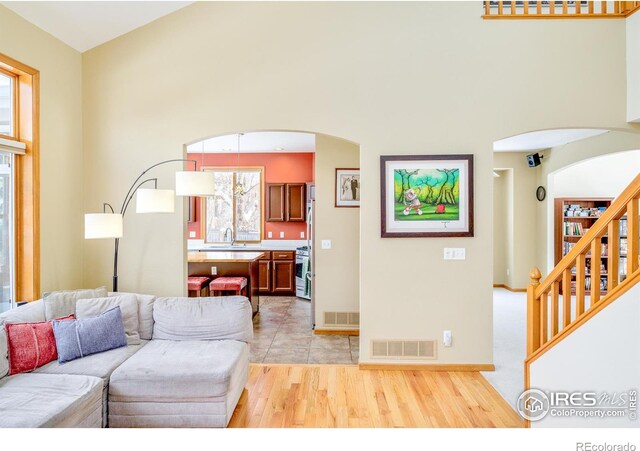
M 75 315 L 58 318 L 75 319 Z M 26 373 L 58 358 L 51 321 L 5 324 L 9 349 L 9 375 Z

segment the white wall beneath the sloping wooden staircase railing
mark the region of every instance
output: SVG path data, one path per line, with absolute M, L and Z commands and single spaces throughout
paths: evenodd
M 620 394 L 640 389 L 640 284 L 533 362 L 531 388 Z M 559 418 L 532 427 L 640 427 L 624 418 Z

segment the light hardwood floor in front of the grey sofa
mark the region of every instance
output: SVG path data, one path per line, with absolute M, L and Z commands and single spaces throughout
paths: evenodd
M 524 427 L 476 372 L 251 364 L 229 427 Z

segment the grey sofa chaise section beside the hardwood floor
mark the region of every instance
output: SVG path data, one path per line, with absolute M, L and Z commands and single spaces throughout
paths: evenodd
M 152 340 L 109 382 L 110 427 L 224 427 L 247 383 L 249 345 Z

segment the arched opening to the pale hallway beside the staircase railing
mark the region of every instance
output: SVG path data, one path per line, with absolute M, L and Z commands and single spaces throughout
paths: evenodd
M 615 198 L 640 171 L 640 135 L 542 130 L 501 139 L 494 149 L 500 176 L 494 178 L 493 206 L 496 371 L 485 376 L 514 402 L 523 390 L 529 271 L 537 266 L 544 276 L 555 265 L 555 200 Z M 534 153 L 540 164 L 530 167 L 527 155 Z

